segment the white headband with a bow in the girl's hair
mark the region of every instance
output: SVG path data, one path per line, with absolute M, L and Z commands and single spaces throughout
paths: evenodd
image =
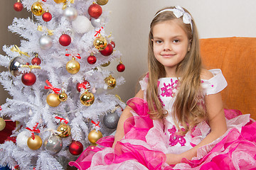
M 186 23 L 186 24 L 190 24 L 191 25 L 191 30 L 193 32 L 193 27 L 192 27 L 192 17 L 189 13 L 185 12 L 184 9 L 181 7 L 181 6 L 175 6 L 175 8 L 167 8 L 167 9 L 164 9 L 162 11 L 159 11 L 159 13 L 162 13 L 162 12 L 165 12 L 165 11 L 171 11 L 174 13 L 174 15 L 177 17 L 177 18 L 180 18 L 181 16 L 183 16 L 183 23 Z M 154 18 L 156 16 L 159 15 L 159 13 L 156 13 L 156 15 L 154 16 Z

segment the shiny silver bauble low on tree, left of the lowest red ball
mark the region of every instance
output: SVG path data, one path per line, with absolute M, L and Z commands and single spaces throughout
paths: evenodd
M 43 142 L 43 147 L 50 154 L 57 154 L 63 148 L 63 140 L 58 135 L 50 135 Z

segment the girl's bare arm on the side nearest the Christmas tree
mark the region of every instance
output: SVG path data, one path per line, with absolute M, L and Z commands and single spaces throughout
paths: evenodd
M 140 90 L 135 97 L 137 98 L 143 98 L 143 91 Z M 122 140 L 122 138 L 124 137 L 124 122 L 125 120 L 127 120 L 128 118 L 132 117 L 132 108 L 130 108 L 129 106 L 127 106 L 126 108 L 124 108 L 124 111 L 122 112 L 122 115 L 119 118 L 118 124 L 117 124 L 117 131 L 114 135 L 114 145 L 117 143 L 117 141 Z

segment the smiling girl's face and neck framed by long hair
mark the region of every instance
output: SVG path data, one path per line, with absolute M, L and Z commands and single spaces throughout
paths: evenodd
M 164 65 L 166 77 L 176 77 L 176 67 L 190 50 L 186 32 L 177 21 L 164 21 L 153 27 L 153 51 L 156 60 Z

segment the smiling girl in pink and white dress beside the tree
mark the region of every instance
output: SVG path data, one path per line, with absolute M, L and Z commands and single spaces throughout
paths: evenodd
M 250 115 L 223 110 L 227 82 L 220 69 L 201 66 L 198 32 L 180 6 L 154 16 L 149 73 L 127 101 L 114 137 L 88 147 L 79 169 L 252 169 L 256 130 Z M 229 114 L 232 113 L 232 114 Z M 225 114 L 229 119 L 225 118 Z M 233 115 L 233 116 L 231 116 Z M 236 116 L 234 116 L 236 115 Z

